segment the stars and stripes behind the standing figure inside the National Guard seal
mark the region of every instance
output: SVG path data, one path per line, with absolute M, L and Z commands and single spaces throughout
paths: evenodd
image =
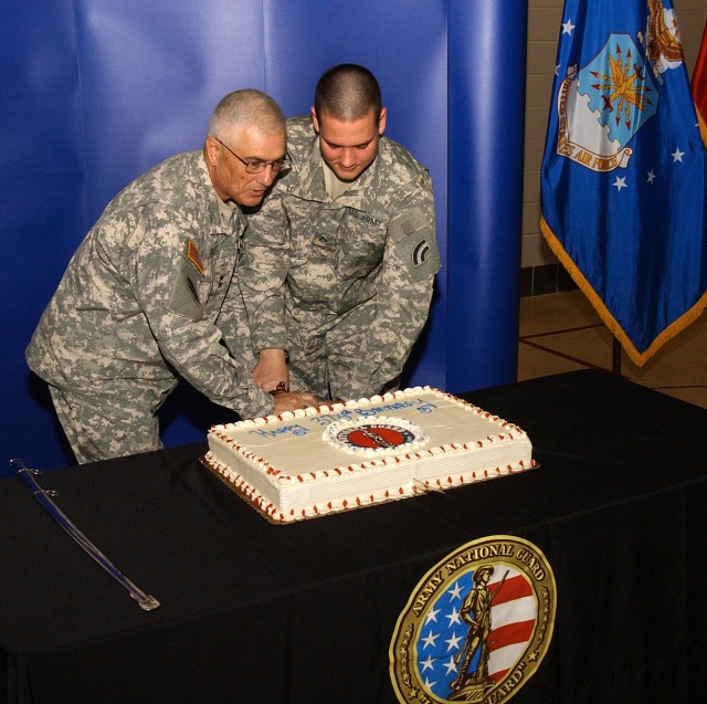
M 493 683 L 498 683 L 525 653 L 537 623 L 538 605 L 526 575 L 503 564 L 494 564 L 487 585 L 493 597 L 490 630 L 485 643 L 487 674 Z M 452 684 L 464 662 L 469 627 L 463 621 L 461 610 L 464 599 L 474 589 L 473 576 L 474 570 L 469 570 L 450 582 L 447 589 L 430 605 L 419 630 L 415 643 L 418 674 L 430 692 L 440 698 L 446 698 L 453 692 Z M 468 664 L 467 676 L 478 670 L 481 652 L 482 649 L 477 648 Z

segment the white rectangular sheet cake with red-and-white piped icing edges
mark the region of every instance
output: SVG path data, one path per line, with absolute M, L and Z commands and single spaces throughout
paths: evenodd
M 214 425 L 204 464 L 288 523 L 535 466 L 517 425 L 430 387 Z

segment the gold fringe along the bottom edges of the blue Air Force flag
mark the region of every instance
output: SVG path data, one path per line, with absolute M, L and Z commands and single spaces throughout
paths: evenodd
M 701 125 L 700 125 L 701 127 Z M 706 143 L 707 144 L 707 143 Z M 707 292 L 699 298 L 699 301 L 688 311 L 686 311 L 679 318 L 668 325 L 648 346 L 648 348 L 641 353 L 636 349 L 635 345 L 631 342 L 629 336 L 624 333 L 621 325 L 616 322 L 616 318 L 609 312 L 609 308 L 604 305 L 599 294 L 594 291 L 592 285 L 587 281 L 582 272 L 574 264 L 570 255 L 564 251 L 564 248 L 557 239 L 545 218 L 540 216 L 540 231 L 545 237 L 546 242 L 552 250 L 555 255 L 560 260 L 560 263 L 568 271 L 574 283 L 579 286 L 580 291 L 587 296 L 592 304 L 599 317 L 603 324 L 609 328 L 611 334 L 619 340 L 619 344 L 623 350 L 629 355 L 631 361 L 637 367 L 643 367 L 648 359 L 651 359 L 669 339 L 675 337 L 678 333 L 684 330 L 688 325 L 694 323 L 707 308 Z

